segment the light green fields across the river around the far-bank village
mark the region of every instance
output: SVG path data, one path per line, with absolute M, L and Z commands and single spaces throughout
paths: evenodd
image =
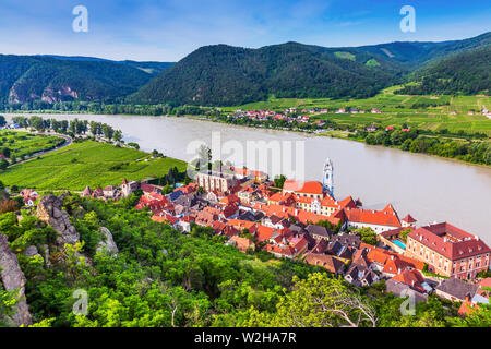
M 394 91 L 400 86 L 384 89 L 374 97 L 366 99 L 330 99 L 330 98 L 270 98 L 265 101 L 247 104 L 243 106 L 221 108 L 224 112 L 237 109 L 254 110 L 285 110 L 290 107 L 297 109 L 357 108 L 366 113 L 325 113 L 311 117 L 311 120 L 332 120 L 339 124 L 357 125 L 402 125 L 422 130 L 439 131 L 447 129 L 450 132 L 480 132 L 491 136 L 491 119 L 480 111 L 491 108 L 489 96 L 409 96 L 395 95 Z M 383 113 L 371 113 L 372 108 L 379 108 Z M 474 110 L 475 115 L 468 112 Z M 453 115 L 453 112 L 456 112 Z

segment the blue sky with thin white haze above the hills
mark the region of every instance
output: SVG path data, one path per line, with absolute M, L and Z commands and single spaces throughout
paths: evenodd
M 75 5 L 88 10 L 87 33 L 72 31 Z M 403 5 L 416 10 L 415 33 L 399 29 Z M 483 0 L 1 0 L 0 52 L 177 61 L 204 45 L 440 41 L 490 23 Z

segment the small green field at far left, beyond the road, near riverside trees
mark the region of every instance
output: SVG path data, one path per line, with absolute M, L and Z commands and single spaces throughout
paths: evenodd
M 53 148 L 64 142 L 64 139 L 53 135 L 0 130 L 0 148 L 8 147 L 11 152 L 11 157 L 15 156 L 21 158 L 37 152 Z

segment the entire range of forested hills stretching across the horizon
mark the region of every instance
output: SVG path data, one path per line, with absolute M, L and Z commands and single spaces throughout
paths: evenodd
M 444 43 L 325 48 L 202 47 L 177 63 L 0 55 L 0 105 L 96 100 L 233 106 L 267 99 L 363 98 L 409 81 L 408 94 L 489 93 L 491 33 Z

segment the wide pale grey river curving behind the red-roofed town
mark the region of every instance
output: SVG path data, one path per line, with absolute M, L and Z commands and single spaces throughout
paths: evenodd
M 275 142 L 287 155 L 301 154 L 294 169 L 304 172 L 307 180 L 322 181 L 326 157 L 334 163 L 336 198 L 348 195 L 361 198 L 364 208 L 379 209 L 392 203 L 403 218 L 410 213 L 418 225 L 448 221 L 470 233 L 479 234 L 491 245 L 491 168 L 467 165 L 451 159 L 398 149 L 370 146 L 363 143 L 307 135 L 296 132 L 235 127 L 209 121 L 173 117 L 106 116 L 106 115 L 41 115 L 44 118 L 96 120 L 123 132 L 125 142 L 136 142 L 144 151 L 157 149 L 184 160 L 193 158 L 188 146 L 202 140 L 212 146 L 212 136 L 221 143 L 236 141 L 246 148 L 248 141 Z M 5 115 L 7 119 L 12 116 Z M 290 142 L 304 147 L 289 152 Z M 299 143 L 295 143 L 299 142 Z M 216 156 L 217 152 L 214 152 Z M 226 155 L 225 153 L 223 154 Z M 246 155 L 244 155 L 246 156 Z M 299 157 L 297 157 L 298 159 Z M 236 165 L 241 159 L 231 158 Z M 274 159 L 273 159 L 274 160 Z M 248 163 L 247 165 L 249 165 Z M 302 165 L 303 164 L 303 165 Z M 252 166 L 248 166 L 252 168 Z M 275 174 L 273 168 L 258 169 Z M 288 170 L 283 171 L 291 176 Z

